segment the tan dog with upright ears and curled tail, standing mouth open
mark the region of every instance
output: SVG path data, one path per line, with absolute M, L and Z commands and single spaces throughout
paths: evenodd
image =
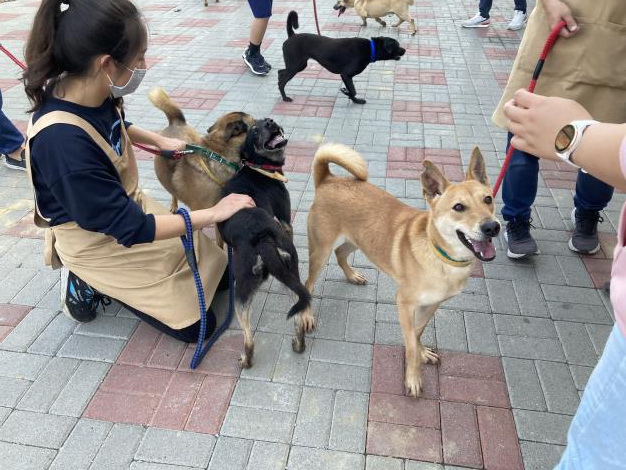
M 354 178 L 332 175 L 329 163 Z M 313 176 L 306 287 L 311 291 L 341 235 L 346 241 L 335 255 L 348 282 L 366 282 L 348 264 L 356 249 L 391 276 L 398 284 L 396 301 L 406 348 L 404 383 L 407 393 L 416 397 L 422 388 L 422 363 L 438 361 L 420 341 L 426 324 L 441 302 L 461 292 L 476 259 L 490 261 L 496 255 L 491 239 L 498 235 L 500 223 L 494 216 L 482 154 L 474 149 L 462 183 L 450 183 L 435 165 L 424 162 L 422 188 L 430 211 L 409 207 L 368 183 L 365 161 L 344 145 L 321 147 L 313 160 Z M 311 312 L 302 316 L 304 325 L 310 324 Z

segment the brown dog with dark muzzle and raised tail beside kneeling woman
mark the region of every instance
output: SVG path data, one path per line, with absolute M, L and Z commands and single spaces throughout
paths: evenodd
M 183 112 L 165 90 L 153 88 L 149 97 L 167 116 L 169 125 L 161 131 L 162 135 L 201 145 L 230 162 L 241 162 L 239 149 L 246 140 L 248 130 L 254 125 L 252 116 L 240 112 L 225 114 L 215 121 L 206 135 L 201 136 L 187 124 Z M 207 168 L 210 174 L 207 174 Z M 221 198 L 223 183 L 234 175 L 231 168 L 195 153 L 179 160 L 157 156 L 154 159 L 154 171 L 163 187 L 172 195 L 172 212 L 178 207 L 179 200 L 191 210 L 214 206 Z

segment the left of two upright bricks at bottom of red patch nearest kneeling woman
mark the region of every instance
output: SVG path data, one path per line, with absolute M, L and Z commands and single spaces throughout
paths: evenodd
M 182 430 L 196 401 L 203 375 L 177 372 L 150 422 L 151 426 Z

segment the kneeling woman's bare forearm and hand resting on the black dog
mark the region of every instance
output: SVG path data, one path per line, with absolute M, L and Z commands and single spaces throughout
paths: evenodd
M 254 207 L 254 200 L 245 194 L 229 194 L 215 206 L 189 213 L 194 230 L 229 219 L 241 209 Z M 155 240 L 179 237 L 186 233 L 185 222 L 178 214 L 155 215 Z

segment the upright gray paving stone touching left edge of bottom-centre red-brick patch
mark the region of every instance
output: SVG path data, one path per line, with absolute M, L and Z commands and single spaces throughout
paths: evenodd
M 368 404 L 366 393 L 337 392 L 330 432 L 331 449 L 365 452 Z

